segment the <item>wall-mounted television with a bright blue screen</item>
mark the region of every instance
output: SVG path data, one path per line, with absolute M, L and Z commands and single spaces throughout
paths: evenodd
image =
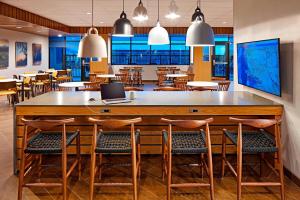
M 281 96 L 279 38 L 237 44 L 238 83 Z

